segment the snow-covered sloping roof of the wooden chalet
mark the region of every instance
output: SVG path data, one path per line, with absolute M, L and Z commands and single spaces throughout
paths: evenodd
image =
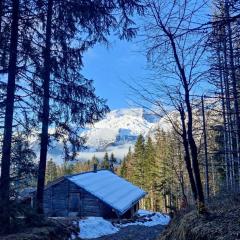
M 87 172 L 67 178 L 111 206 L 120 215 L 146 195 L 141 188 L 108 170 Z

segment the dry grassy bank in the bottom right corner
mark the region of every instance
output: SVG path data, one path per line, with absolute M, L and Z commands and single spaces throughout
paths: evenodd
M 240 195 L 215 198 L 208 210 L 205 216 L 180 213 L 159 240 L 240 240 Z

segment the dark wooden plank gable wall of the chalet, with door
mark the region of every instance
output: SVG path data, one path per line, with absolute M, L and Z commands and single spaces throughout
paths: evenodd
M 43 207 L 47 216 L 116 217 L 111 207 L 66 178 L 45 189 Z

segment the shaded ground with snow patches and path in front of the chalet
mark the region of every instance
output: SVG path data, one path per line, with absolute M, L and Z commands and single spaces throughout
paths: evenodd
M 23 219 L 19 219 L 23 221 Z M 24 220 L 25 222 L 26 220 Z M 15 233 L 0 236 L 1 240 L 157 240 L 165 225 L 170 221 L 168 215 L 139 210 L 133 219 L 86 218 L 48 218 L 37 219 L 23 226 L 19 224 Z M 78 238 L 77 238 L 78 236 Z

